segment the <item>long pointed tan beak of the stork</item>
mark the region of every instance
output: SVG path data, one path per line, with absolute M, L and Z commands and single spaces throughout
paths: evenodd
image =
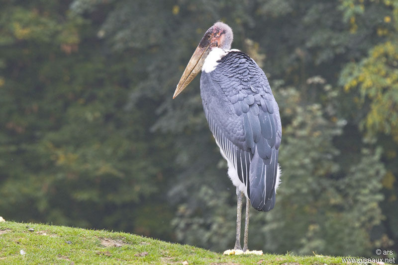
M 176 98 L 178 94 L 180 94 L 184 88 L 187 87 L 189 83 L 198 75 L 201 67 L 204 64 L 204 59 L 209 53 L 210 45 L 205 47 L 200 47 L 200 45 L 196 48 L 194 54 L 191 57 L 191 60 L 188 62 L 187 67 L 184 70 L 183 75 L 181 76 L 180 82 L 178 82 L 176 91 L 174 92 L 173 98 Z

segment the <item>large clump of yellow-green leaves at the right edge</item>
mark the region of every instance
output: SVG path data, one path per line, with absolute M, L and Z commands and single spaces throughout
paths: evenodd
M 342 73 L 344 89 L 360 87 L 360 103 L 370 100 L 363 121 L 371 135 L 392 134 L 398 142 L 398 45 L 390 41 L 375 46 L 368 58 L 351 63 Z

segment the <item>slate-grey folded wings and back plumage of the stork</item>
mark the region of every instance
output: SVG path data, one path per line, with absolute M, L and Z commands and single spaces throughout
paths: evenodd
M 200 85 L 210 131 L 252 206 L 268 211 L 279 182 L 279 108 L 264 72 L 247 55 L 230 52 L 219 62 L 202 73 Z

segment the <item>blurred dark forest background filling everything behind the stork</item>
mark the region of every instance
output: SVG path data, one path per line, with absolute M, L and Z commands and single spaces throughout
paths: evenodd
M 282 117 L 282 184 L 249 247 L 397 254 L 394 0 L 0 0 L 0 215 L 231 248 L 199 78 L 172 100 L 219 19 Z

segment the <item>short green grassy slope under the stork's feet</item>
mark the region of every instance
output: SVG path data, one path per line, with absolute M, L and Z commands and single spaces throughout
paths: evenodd
M 34 231 L 29 231 L 33 228 Z M 26 254 L 21 255 L 23 250 Z M 342 264 L 341 258 L 224 256 L 137 235 L 32 223 L 0 223 L 0 264 Z

